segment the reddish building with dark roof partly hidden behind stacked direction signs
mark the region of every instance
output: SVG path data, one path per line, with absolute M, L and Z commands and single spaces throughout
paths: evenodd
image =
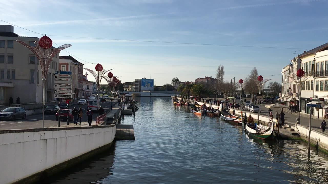
M 66 57 L 65 57 L 66 58 Z M 78 100 L 78 63 L 71 59 L 65 59 L 63 56 L 59 57 L 59 69 L 61 71 L 72 72 L 72 98 Z

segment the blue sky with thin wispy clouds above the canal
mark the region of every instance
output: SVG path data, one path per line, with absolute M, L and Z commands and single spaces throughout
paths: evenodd
M 93 70 L 97 63 L 114 68 L 123 83 L 215 78 L 220 64 L 225 81 L 244 80 L 256 67 L 281 83 L 294 51 L 328 42 L 327 0 L 0 0 L 0 7 L 1 20 L 28 29 L 14 27 L 19 36 L 71 44 L 71 54 L 60 55 Z

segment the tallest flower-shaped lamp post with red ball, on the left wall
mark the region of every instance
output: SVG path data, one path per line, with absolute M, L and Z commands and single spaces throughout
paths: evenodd
M 52 47 L 51 39 L 44 35 L 40 38 L 39 41 L 35 41 L 35 46 L 30 46 L 24 43 L 23 41 L 16 40 L 18 43 L 29 48 L 36 56 L 38 62 L 40 63 L 42 70 L 42 105 L 43 105 L 43 116 L 42 116 L 42 128 L 44 128 L 44 106 L 45 106 L 45 91 L 46 91 L 46 79 L 48 74 L 48 69 L 52 58 L 55 57 L 61 50 L 64 50 L 67 47 L 72 45 L 65 44 L 59 46 L 58 48 Z M 58 117 L 59 119 L 60 117 Z

